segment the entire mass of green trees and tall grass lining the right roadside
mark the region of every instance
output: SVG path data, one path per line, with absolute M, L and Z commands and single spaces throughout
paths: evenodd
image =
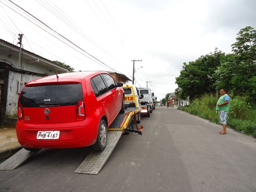
M 231 98 L 228 126 L 256 137 L 256 30 L 242 28 L 231 48 L 232 54 L 215 48 L 184 63 L 175 93 L 180 99 L 190 98 L 190 105 L 180 109 L 218 123 L 216 92 L 225 88 Z

